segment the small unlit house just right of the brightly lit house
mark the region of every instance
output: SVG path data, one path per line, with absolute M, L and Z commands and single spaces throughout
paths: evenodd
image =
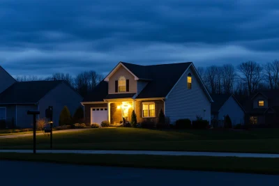
M 232 125 L 244 124 L 245 110 L 234 95 L 211 95 L 211 123 L 214 127 L 224 127 L 225 116 L 229 115 Z

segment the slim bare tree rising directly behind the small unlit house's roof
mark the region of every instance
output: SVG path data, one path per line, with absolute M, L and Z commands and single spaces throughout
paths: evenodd
M 220 75 L 222 76 L 222 86 L 225 94 L 230 94 L 234 88 L 234 79 L 236 72 L 232 64 L 223 65 L 221 68 Z

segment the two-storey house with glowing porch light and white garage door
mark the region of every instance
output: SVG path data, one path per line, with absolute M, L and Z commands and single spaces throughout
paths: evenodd
M 180 118 L 211 118 L 211 96 L 193 63 L 135 65 L 119 62 L 93 93 L 84 98 L 86 124 L 158 122 L 160 109 L 171 123 Z

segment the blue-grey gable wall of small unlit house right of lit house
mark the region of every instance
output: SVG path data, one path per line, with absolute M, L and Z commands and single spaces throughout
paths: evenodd
M 229 118 L 232 120 L 232 125 L 244 124 L 245 113 L 232 96 L 220 108 L 218 118 L 224 118 L 223 116 L 225 115 L 229 115 Z

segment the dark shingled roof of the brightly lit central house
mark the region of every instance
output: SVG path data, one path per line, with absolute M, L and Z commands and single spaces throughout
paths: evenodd
M 140 81 L 148 82 L 142 91 L 136 96 L 137 98 L 165 98 L 169 91 L 172 90 L 176 82 L 183 73 L 190 67 L 192 62 L 186 63 L 169 63 L 160 65 L 136 65 L 132 63 L 119 62 L 130 72 L 133 73 Z M 119 65 L 118 64 L 118 65 Z M 116 67 L 118 66 L 116 65 Z M 116 68 L 114 68 L 115 70 Z M 113 71 L 113 70 L 112 70 Z M 112 73 L 112 72 L 111 72 Z M 84 102 L 97 102 L 103 99 L 113 98 L 132 98 L 131 93 L 123 93 L 117 95 L 107 95 L 107 82 L 100 82 L 93 90 L 93 93 Z M 210 95 L 209 95 L 209 99 Z

